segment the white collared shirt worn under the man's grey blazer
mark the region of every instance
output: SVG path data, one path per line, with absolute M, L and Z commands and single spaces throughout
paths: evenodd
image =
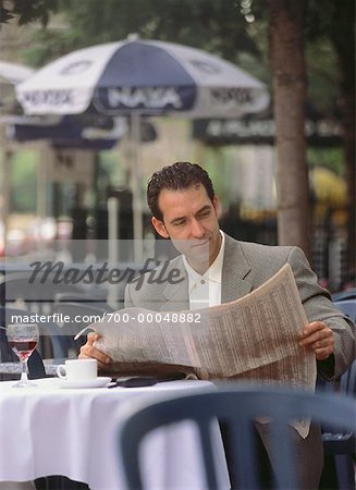
M 221 305 L 221 274 L 225 248 L 225 235 L 221 233 L 219 254 L 209 269 L 201 275 L 189 266 L 183 256 L 184 267 L 188 274 L 189 309 L 207 308 Z

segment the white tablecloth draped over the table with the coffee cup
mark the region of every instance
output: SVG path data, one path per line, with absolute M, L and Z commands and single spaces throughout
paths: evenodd
M 36 380 L 37 388 L 13 389 L 0 382 L 0 481 L 63 475 L 91 490 L 124 490 L 115 433 L 120 409 L 134 397 L 212 390 L 208 381 L 180 380 L 146 388 L 63 389 L 58 379 Z M 221 488 L 229 478 L 217 436 Z M 145 451 L 149 489 L 205 490 L 195 432 L 188 424 L 160 430 Z

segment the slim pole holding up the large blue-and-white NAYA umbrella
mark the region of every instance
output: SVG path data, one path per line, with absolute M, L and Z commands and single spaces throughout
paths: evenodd
M 143 197 L 140 189 L 140 114 L 131 113 L 134 261 L 143 259 Z

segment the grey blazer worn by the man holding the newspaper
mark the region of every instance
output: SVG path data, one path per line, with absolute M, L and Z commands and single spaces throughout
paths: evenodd
M 293 270 L 309 322 L 324 321 L 334 331 L 334 356 L 318 363 L 318 370 L 327 379 L 339 376 L 355 359 L 355 326 L 333 306 L 300 248 L 238 242 L 225 234 L 221 301 L 228 303 L 251 292 L 286 262 Z M 187 284 L 182 256 L 179 256 L 161 266 L 156 278 L 148 272 L 140 282 L 128 284 L 125 307 L 140 306 L 157 311 L 188 309 Z

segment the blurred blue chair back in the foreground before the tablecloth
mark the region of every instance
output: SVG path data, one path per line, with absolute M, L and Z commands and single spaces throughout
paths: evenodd
M 119 453 L 131 490 L 143 488 L 138 451 L 143 438 L 151 430 L 176 421 L 189 420 L 197 426 L 204 456 L 207 489 L 217 488 L 213 448 L 209 428 L 213 419 L 228 426 L 231 433 L 231 456 L 238 488 L 261 489 L 256 468 L 253 421 L 259 417 L 272 419 L 271 448 L 275 462 L 275 489 L 300 488 L 297 485 L 291 431 L 287 425 L 296 418 L 312 417 L 315 421 L 353 430 L 356 407 L 346 396 L 298 392 L 277 388 L 248 387 L 243 383 L 220 388 L 214 392 L 188 394 L 182 397 L 126 407 L 119 426 Z M 300 489 L 302 490 L 302 489 Z

